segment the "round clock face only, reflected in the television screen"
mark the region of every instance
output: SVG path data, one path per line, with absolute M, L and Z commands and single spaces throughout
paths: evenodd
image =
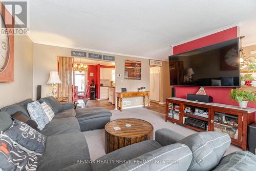
M 224 56 L 225 63 L 232 67 L 238 67 L 239 61 L 238 61 L 238 47 L 233 47 L 227 51 L 227 53 Z

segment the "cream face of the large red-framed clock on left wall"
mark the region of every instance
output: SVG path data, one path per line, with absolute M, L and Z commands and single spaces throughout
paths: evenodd
M 1 17 L 1 26 L 3 30 L 6 29 L 3 17 Z M 0 34 L 0 73 L 5 70 L 9 61 L 9 36 L 7 34 Z

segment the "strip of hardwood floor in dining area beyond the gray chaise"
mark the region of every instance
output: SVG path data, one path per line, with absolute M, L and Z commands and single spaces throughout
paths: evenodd
M 83 100 L 78 100 L 78 106 L 84 108 Z M 109 100 L 88 100 L 85 107 L 104 107 L 108 110 L 114 110 L 115 105 L 109 103 Z

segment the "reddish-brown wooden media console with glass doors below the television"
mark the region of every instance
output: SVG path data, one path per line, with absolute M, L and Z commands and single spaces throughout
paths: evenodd
M 247 126 L 254 122 L 255 108 L 241 109 L 181 98 L 166 98 L 165 105 L 165 122 L 169 120 L 197 131 L 225 132 L 229 134 L 232 144 L 247 149 Z

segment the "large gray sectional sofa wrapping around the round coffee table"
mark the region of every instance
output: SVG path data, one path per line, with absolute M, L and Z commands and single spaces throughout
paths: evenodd
M 90 160 L 86 138 L 81 131 L 103 128 L 111 112 L 103 108 L 74 109 L 53 98 L 43 98 L 55 113 L 41 130 L 47 136 L 45 153 L 38 156 L 37 170 L 250 170 L 256 167 L 255 155 L 239 151 L 223 157 L 230 138 L 221 132 L 200 132 L 184 137 L 170 129 L 156 131 L 156 140 L 129 145 L 96 160 Z M 0 111 L 0 130 L 12 123 L 10 116 L 22 111 L 29 117 L 32 100 L 6 106 Z M 95 144 L 97 148 L 97 144 Z

